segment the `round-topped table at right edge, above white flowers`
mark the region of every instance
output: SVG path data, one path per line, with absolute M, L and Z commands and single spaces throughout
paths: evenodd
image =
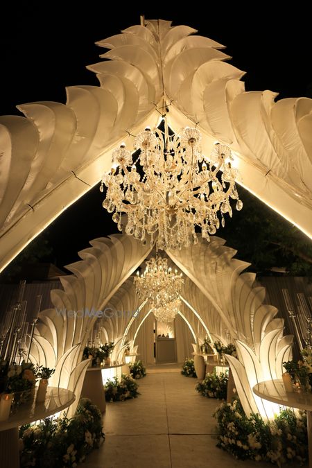
M 272 401 L 272 403 L 306 410 L 306 424 L 309 440 L 309 468 L 312 468 L 312 393 L 300 392 L 297 390 L 295 392 L 286 392 L 281 379 L 257 383 L 252 390 L 258 397 Z

